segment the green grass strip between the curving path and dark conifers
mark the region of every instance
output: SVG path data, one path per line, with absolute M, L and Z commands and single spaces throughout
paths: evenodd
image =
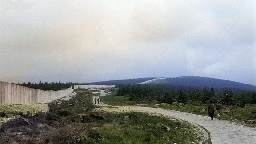
M 102 100 L 109 105 L 136 105 L 139 103 L 147 103 L 146 101 L 129 101 L 128 97 L 113 95 L 103 96 Z M 150 101 L 147 106 L 208 116 L 208 104 L 197 102 L 189 104 L 154 104 L 154 102 Z M 230 112 L 225 112 L 223 110 L 221 113 L 222 120 L 233 121 L 249 127 L 256 127 L 256 104 L 246 104 L 244 108 L 237 106 L 226 106 L 226 108 L 227 107 L 230 109 Z

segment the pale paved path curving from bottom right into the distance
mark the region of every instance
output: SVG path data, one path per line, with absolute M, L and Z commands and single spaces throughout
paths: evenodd
M 101 90 L 100 96 L 105 96 L 104 90 Z M 92 97 L 98 98 L 99 96 Z M 94 103 L 93 103 L 94 104 Z M 110 106 L 104 103 L 96 104 L 97 106 Z M 167 117 L 175 117 L 181 120 L 186 120 L 189 123 L 199 124 L 204 127 L 211 137 L 212 144 L 255 144 L 256 143 L 256 128 L 249 128 L 244 125 L 236 124 L 225 120 L 210 120 L 208 116 L 201 116 L 187 112 L 179 112 L 163 108 L 151 108 L 140 106 L 122 106 L 132 111 L 138 112 L 153 112 L 162 114 Z

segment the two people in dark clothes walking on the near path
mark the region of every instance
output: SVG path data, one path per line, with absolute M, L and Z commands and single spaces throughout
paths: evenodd
M 210 100 L 210 104 L 208 104 L 208 114 L 211 117 L 211 120 L 213 120 L 214 112 L 216 111 L 217 116 L 220 120 L 220 112 L 221 109 L 223 108 L 222 104 L 220 104 L 220 101 L 217 101 L 216 106 L 213 104 L 212 100 Z

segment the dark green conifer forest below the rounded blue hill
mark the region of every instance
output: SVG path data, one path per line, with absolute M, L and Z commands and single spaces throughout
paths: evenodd
M 117 96 L 128 96 L 129 100 L 157 100 L 160 103 L 180 103 L 201 102 L 208 103 L 209 100 L 216 102 L 219 100 L 225 105 L 244 106 L 246 103 L 256 104 L 256 92 L 238 90 L 232 88 L 213 87 L 196 88 L 190 86 L 173 86 L 166 84 L 118 84 Z

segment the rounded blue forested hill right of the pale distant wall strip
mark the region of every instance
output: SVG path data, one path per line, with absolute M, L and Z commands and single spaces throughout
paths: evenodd
M 221 80 L 207 77 L 183 76 L 176 78 L 166 78 L 162 80 L 152 81 L 151 84 L 168 84 L 178 86 L 192 87 L 208 87 L 208 88 L 234 88 L 241 90 L 256 90 L 256 86 L 250 84 L 242 84 L 239 82 Z

